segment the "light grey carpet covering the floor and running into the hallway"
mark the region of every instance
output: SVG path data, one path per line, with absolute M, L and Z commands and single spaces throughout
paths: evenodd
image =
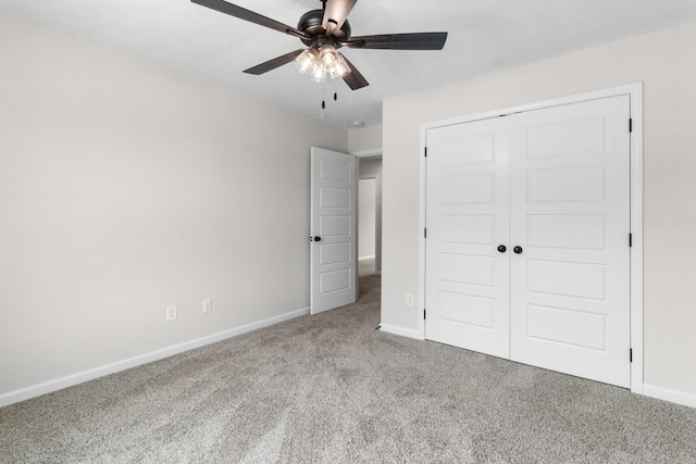
M 378 286 L 1 409 L 0 462 L 696 462 L 696 410 L 375 330 Z

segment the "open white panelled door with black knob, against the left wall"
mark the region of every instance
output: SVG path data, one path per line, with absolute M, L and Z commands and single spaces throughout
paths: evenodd
M 356 156 L 312 147 L 312 314 L 356 302 L 357 177 Z

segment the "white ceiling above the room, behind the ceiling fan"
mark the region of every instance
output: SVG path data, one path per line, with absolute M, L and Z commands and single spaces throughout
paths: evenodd
M 232 2 L 290 26 L 321 8 L 320 0 Z M 340 80 L 315 84 L 291 64 L 243 74 L 302 43 L 189 0 L 0 0 L 0 11 L 348 128 L 381 123 L 388 98 L 696 21 L 696 0 L 359 0 L 349 16 L 353 36 L 449 37 L 442 51 L 341 49 L 370 81 L 356 91 Z

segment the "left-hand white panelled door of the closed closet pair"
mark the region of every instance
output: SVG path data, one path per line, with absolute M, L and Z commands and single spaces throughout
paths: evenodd
M 509 358 L 508 118 L 427 131 L 425 337 Z M 498 246 L 506 252 L 498 252 Z

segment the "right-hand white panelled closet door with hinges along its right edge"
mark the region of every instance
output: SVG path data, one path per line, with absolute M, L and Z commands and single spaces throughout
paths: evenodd
M 511 359 L 630 387 L 630 100 L 512 116 Z

